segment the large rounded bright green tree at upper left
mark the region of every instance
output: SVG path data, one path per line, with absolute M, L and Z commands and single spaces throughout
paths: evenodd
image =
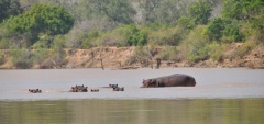
M 11 33 L 26 35 L 36 42 L 40 33 L 48 35 L 66 34 L 74 25 L 74 18 L 63 8 L 35 4 L 20 15 L 3 22 Z

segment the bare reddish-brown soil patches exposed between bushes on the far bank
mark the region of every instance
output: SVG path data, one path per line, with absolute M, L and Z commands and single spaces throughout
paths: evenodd
M 162 60 L 161 67 L 246 67 L 264 69 L 264 45 L 258 45 L 254 49 L 248 52 L 243 57 L 237 57 L 235 52 L 241 47 L 242 43 L 232 44 L 224 53 L 223 59 L 213 61 L 207 59 L 199 63 Z M 140 61 L 129 65 L 127 61 L 133 56 L 134 47 L 98 47 L 91 49 L 66 49 L 65 66 L 59 68 L 113 68 L 113 69 L 136 69 L 145 67 Z M 4 50 L 4 63 L 0 65 L 1 69 L 14 68 L 11 63 L 11 57 Z M 157 52 L 158 53 L 158 52 Z M 158 55 L 158 54 L 156 54 Z M 156 58 L 154 56 L 153 58 Z M 156 66 L 156 61 L 152 61 Z M 151 63 L 150 63 L 151 64 Z M 147 65 L 151 67 L 151 65 Z M 40 68 L 34 65 L 33 68 Z M 55 68 L 55 67 L 54 67 Z

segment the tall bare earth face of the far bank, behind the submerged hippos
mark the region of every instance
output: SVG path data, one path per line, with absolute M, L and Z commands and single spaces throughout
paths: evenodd
M 103 47 L 91 49 L 68 49 L 66 68 L 119 68 L 125 66 L 133 47 Z

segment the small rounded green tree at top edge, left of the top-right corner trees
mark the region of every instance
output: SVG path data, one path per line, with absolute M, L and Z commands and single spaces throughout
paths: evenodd
M 202 1 L 195 2 L 188 8 L 188 13 L 195 24 L 207 24 L 211 16 L 211 5 Z

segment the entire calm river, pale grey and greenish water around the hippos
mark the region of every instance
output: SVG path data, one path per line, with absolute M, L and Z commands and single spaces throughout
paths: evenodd
M 140 88 L 143 79 L 172 74 L 190 75 L 197 86 Z M 262 69 L 0 70 L 0 124 L 264 123 Z M 76 84 L 100 91 L 68 92 Z M 36 88 L 43 93 L 28 92 Z

